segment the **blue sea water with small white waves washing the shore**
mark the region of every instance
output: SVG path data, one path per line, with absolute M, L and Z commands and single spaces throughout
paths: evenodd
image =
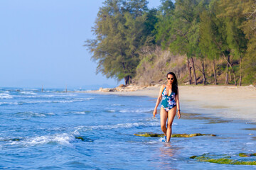
M 161 133 L 156 98 L 58 89 L 0 89 L 0 169 L 256 169 L 198 162 L 193 155 L 256 152 L 256 125 L 211 116 L 223 109 L 181 101 L 173 133 L 213 136 L 139 137 Z M 248 158 L 254 159 L 255 158 Z

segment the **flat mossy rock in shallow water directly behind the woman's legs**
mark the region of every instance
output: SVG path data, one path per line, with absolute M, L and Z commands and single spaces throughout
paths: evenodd
M 142 137 L 164 137 L 164 134 L 153 133 L 153 132 L 138 132 L 135 133 L 136 136 Z M 173 134 L 171 137 L 195 137 L 195 136 L 216 136 L 216 135 L 208 135 L 208 134 L 201 134 L 201 133 L 193 133 L 193 134 Z

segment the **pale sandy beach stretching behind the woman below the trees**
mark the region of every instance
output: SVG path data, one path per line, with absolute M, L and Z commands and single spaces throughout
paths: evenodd
M 215 115 L 220 117 L 256 122 L 255 86 L 179 86 L 178 88 L 181 112 L 182 103 L 185 102 L 190 103 L 196 108 L 223 109 L 223 112 L 215 113 Z M 159 89 L 159 86 L 149 86 L 137 91 L 90 91 L 89 93 L 157 98 Z

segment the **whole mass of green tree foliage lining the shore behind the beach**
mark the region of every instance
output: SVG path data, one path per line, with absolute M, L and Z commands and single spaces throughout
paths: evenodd
M 163 62 L 159 55 L 142 55 L 144 47 L 161 45 L 172 55 L 213 61 L 218 76 L 230 72 L 232 79 L 235 75 L 247 84 L 256 83 L 255 1 L 161 0 L 157 9 L 147 4 L 146 0 L 103 3 L 92 28 L 95 38 L 85 45 L 97 62 L 97 73 L 129 83 L 144 67 L 150 67 L 152 74 L 156 68 L 164 72 L 179 67 L 170 58 Z M 229 69 L 224 63 L 215 65 L 223 61 Z M 185 81 L 188 74 L 182 75 L 179 79 Z

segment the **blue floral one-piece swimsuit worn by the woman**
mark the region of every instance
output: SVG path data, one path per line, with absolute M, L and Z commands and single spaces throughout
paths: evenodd
M 168 94 L 166 93 L 166 87 L 164 87 L 162 98 L 163 100 L 161 102 L 161 107 L 163 107 L 164 110 L 170 111 L 171 108 L 174 108 L 176 106 L 174 91 L 171 91 L 170 96 L 168 96 Z

